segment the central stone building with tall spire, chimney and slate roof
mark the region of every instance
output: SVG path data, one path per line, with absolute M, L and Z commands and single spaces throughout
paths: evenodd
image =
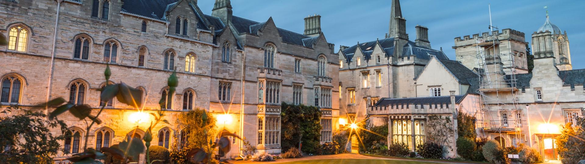
M 362 120 L 367 114 L 366 108 L 381 97 L 414 97 L 412 79 L 420 74 L 431 57 L 448 59 L 443 51 L 431 49 L 428 28 L 415 28 L 417 39 L 413 42 L 408 40 L 400 1 L 393 0 L 386 38 L 358 42 L 351 47 L 340 46 L 340 116 L 348 116 L 344 118 L 348 123 Z

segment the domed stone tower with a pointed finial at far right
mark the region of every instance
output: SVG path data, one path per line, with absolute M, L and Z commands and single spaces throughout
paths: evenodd
M 548 11 L 545 24 L 532 33 L 532 51 L 537 56 L 555 57 L 556 67 L 560 71 L 572 70 L 571 53 L 569 50 L 569 37 L 560 28 L 550 23 Z M 552 54 L 552 55 L 548 55 Z

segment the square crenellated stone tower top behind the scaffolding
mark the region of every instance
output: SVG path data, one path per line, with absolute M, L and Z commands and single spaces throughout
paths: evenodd
M 490 32 L 473 34 L 455 38 L 455 60 L 460 61 L 469 69 L 481 68 L 477 60 L 478 54 L 500 55 L 503 67 L 506 71 L 514 70 L 518 74 L 528 73 L 528 62 L 526 61 L 526 45 L 524 33 L 512 29 L 503 29 L 500 33 L 498 30 L 492 32 L 495 38 L 490 37 Z M 477 48 L 479 45 L 480 48 Z

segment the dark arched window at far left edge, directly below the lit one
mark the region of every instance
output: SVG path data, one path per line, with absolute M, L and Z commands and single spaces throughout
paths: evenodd
M 7 76 L 2 79 L 2 92 L 0 102 L 19 103 L 22 91 L 22 80 L 16 76 Z

